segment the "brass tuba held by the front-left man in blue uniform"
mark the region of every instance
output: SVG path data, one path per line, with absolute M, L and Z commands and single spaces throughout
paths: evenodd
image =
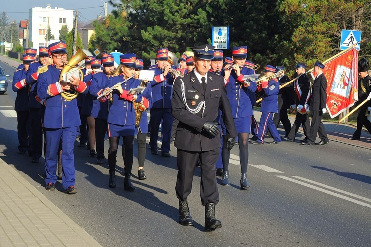
M 76 53 L 72 56 L 72 58 L 68 62 L 64 62 L 64 67 L 62 71 L 60 72 L 59 81 L 63 80 L 63 75 L 69 72 L 70 70 L 79 70 L 80 74 L 80 80 L 83 80 L 83 72 L 80 68 L 76 67 L 78 63 L 80 63 L 82 60 L 87 59 L 88 55 L 81 49 L 77 48 Z M 60 96 L 62 96 L 65 100 L 70 101 L 77 97 L 79 92 L 75 89 L 75 87 L 71 86 L 70 90 L 66 90 L 64 92 L 60 93 Z

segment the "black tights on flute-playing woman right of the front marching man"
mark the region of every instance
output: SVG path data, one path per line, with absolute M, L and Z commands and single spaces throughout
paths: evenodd
M 249 149 L 248 149 L 249 134 L 250 133 L 238 134 L 239 161 L 241 163 L 241 173 L 247 173 L 247 164 L 249 161 Z M 225 147 L 226 142 L 227 137 L 223 135 L 222 162 L 224 171 L 228 171 L 228 165 L 230 161 L 230 152 Z

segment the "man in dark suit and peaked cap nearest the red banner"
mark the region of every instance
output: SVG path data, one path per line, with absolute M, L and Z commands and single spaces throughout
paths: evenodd
M 313 82 L 312 86 L 312 96 L 310 103 L 310 110 L 312 111 L 312 123 L 311 130 L 308 134 L 308 140 L 302 142 L 303 145 L 312 145 L 316 141 L 317 133 L 321 138 L 321 141 L 316 143 L 316 145 L 325 145 L 328 143 L 328 137 L 325 130 L 325 126 L 321 121 L 322 114 L 326 113 L 326 101 L 327 101 L 327 79 L 322 73 L 325 66 L 317 61 L 314 64 L 314 72 L 317 77 Z

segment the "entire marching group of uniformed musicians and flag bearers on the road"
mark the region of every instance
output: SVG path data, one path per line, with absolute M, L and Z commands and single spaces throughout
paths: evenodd
M 279 144 L 281 138 L 294 141 L 302 124 L 303 145 L 327 144 L 328 137 L 321 121 L 326 112 L 327 80 L 322 73 L 325 65 L 317 61 L 314 64 L 317 78 L 311 86 L 306 64 L 298 62 L 295 67 L 297 79 L 292 87 L 283 90 L 280 85 L 289 81 L 283 66 L 267 64 L 263 70 L 265 76 L 256 79 L 255 71 L 259 65 L 246 60 L 246 46 L 233 47 L 232 57 L 224 57 L 224 63 L 223 51 L 214 48 L 211 45 L 194 47 L 193 52 L 181 55 L 179 65 L 167 48 L 158 49 L 156 64 L 149 68 L 154 72 L 153 80 L 149 81 L 139 80 L 144 64 L 136 54 L 121 55 L 120 66 L 115 68 L 114 58 L 109 53 L 103 54 L 101 60 L 83 53 L 75 54 L 74 62 L 67 62 L 64 42 L 40 47 L 39 61 L 34 61 L 36 53 L 29 49 L 35 54 L 23 56 L 23 64 L 13 78 L 13 90 L 17 92 L 15 110 L 19 154 L 28 152 L 32 162 L 38 163 L 44 132 L 46 190 L 55 190 L 60 176 L 65 193 L 76 194 L 73 150 L 76 137 L 80 137 L 78 147 L 87 145 L 90 155 L 96 155 L 96 163 L 102 164 L 105 159 L 104 138 L 108 133 L 107 182 L 108 187 L 115 188 L 116 157 L 122 137 L 124 189 L 134 191 L 131 176 L 135 136 L 138 140 L 138 179 L 143 180 L 147 178 L 143 168 L 147 133 L 150 133 L 151 154 L 157 155 L 161 124 L 161 156 L 171 156 L 173 137 L 177 148 L 175 188 L 179 200 L 179 223 L 193 225 L 187 196 L 198 163 L 201 166 L 200 193 L 205 206 L 205 230 L 220 228 L 221 221 L 215 217 L 215 205 L 219 201 L 216 176 L 222 177 L 223 186 L 229 185 L 228 165 L 233 145 L 238 143 L 240 189 L 245 190 L 250 188 L 247 182 L 249 141 L 260 145 Z M 86 67 L 79 78 L 72 73 L 73 67 L 79 68 L 77 63 L 83 60 Z M 362 126 L 371 130 L 371 123 L 365 117 L 371 106 L 371 78 L 367 75 L 368 61 L 361 60 L 359 97 L 368 102 L 359 111 L 357 127 L 360 128 L 351 138 L 353 140 L 360 138 Z M 143 90 L 131 91 L 138 87 Z M 66 96 L 70 91 L 74 96 Z M 263 93 L 259 124 L 253 115 L 256 91 Z M 292 126 L 287 116 L 288 108 L 296 111 Z M 282 137 L 277 131 L 280 121 L 285 130 Z M 273 142 L 265 141 L 267 129 Z M 315 143 L 317 134 L 321 138 L 319 143 Z M 57 176 L 59 156 L 63 168 L 60 166 Z

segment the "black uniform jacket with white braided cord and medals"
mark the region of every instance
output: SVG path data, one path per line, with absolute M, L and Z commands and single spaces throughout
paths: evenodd
M 237 136 L 223 77 L 214 73 L 207 73 L 206 78 L 205 93 L 194 70 L 179 76 L 174 81 L 171 107 L 173 117 L 179 120 L 177 138 L 174 143 L 174 146 L 179 149 L 209 151 L 219 148 L 221 145 L 220 136 L 214 137 L 202 130 L 206 121 L 214 122 L 217 119 L 219 109 L 223 113 L 227 138 Z M 183 92 L 182 82 L 184 84 Z M 191 113 L 186 109 L 183 98 L 191 109 L 195 109 L 202 100 L 205 100 L 205 107 L 198 113 Z

